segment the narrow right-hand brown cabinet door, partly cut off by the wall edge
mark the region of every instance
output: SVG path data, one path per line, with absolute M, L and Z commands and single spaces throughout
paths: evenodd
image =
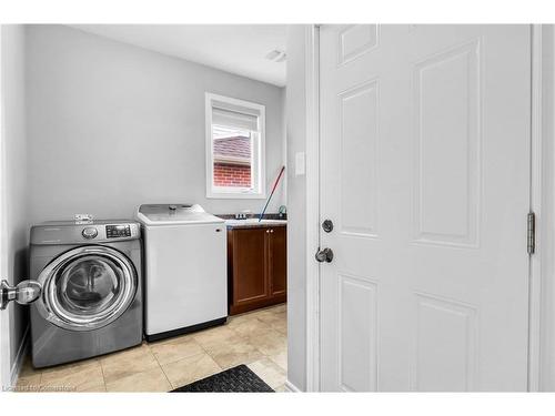
M 270 290 L 271 296 L 284 297 L 287 283 L 286 227 L 276 226 L 270 233 Z

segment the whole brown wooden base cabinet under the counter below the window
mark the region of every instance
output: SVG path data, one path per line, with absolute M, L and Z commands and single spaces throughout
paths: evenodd
M 285 302 L 286 227 L 228 230 L 228 296 L 230 315 Z

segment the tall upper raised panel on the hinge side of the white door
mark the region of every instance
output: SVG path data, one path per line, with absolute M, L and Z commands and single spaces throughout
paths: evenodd
M 415 243 L 480 245 L 480 55 L 481 41 L 476 39 L 414 65 Z

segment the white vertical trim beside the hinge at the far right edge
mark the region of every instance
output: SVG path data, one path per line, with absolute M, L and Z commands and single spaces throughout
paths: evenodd
M 555 390 L 555 30 L 532 26 L 532 187 L 528 390 Z

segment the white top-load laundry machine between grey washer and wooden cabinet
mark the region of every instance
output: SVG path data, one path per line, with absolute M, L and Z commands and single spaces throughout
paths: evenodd
M 147 204 L 138 211 L 144 241 L 148 341 L 225 322 L 225 221 L 200 205 Z

